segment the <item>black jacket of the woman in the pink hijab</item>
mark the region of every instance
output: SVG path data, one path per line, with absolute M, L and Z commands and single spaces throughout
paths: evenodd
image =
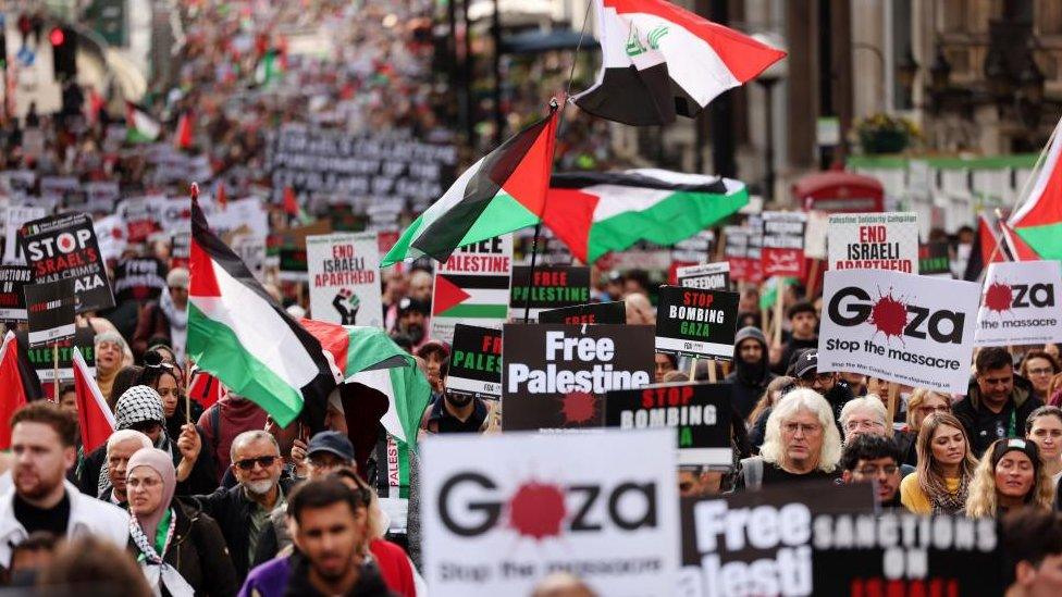
M 176 528 L 163 560 L 177 569 L 196 595 L 232 597 L 239 590 L 225 538 L 214 519 L 193 506 L 173 501 Z M 129 548 L 136 545 L 129 539 Z

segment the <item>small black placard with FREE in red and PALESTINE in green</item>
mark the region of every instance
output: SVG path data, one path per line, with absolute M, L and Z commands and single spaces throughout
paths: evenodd
M 578 265 L 539 265 L 531 279 L 531 268 L 513 268 L 513 293 L 509 298 L 509 319 L 523 321 L 531 296 L 530 320 L 538 321 L 545 309 L 558 309 L 590 302 L 590 268 Z

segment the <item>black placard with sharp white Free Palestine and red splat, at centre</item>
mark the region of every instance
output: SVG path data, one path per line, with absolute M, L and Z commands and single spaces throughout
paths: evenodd
M 649 385 L 649 325 L 506 324 L 502 334 L 505 431 L 600 427 L 610 389 Z

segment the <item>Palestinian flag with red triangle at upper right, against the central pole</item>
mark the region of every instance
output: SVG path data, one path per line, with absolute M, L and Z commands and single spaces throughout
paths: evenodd
M 538 224 L 553 169 L 556 125 L 553 109 L 472 164 L 406 228 L 381 266 L 425 254 L 445 261 L 458 247 Z

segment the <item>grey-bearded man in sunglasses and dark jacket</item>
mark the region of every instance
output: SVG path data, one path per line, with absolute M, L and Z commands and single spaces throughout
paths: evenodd
M 232 471 L 237 484 L 209 496 L 196 496 L 202 511 L 221 526 L 229 554 L 243 582 L 258 549 L 262 532 L 270 525 L 270 512 L 284 503 L 292 481 L 281 478 L 284 459 L 269 432 L 249 431 L 232 444 Z

